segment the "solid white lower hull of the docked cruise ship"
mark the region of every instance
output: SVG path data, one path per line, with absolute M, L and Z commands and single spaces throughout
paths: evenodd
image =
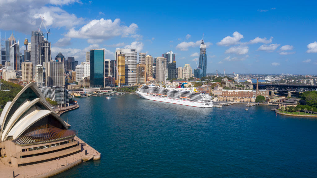
M 181 99 L 170 99 L 170 98 L 163 98 L 163 97 L 158 97 L 158 96 L 149 96 L 147 93 L 142 93 L 142 92 L 136 92 L 139 94 L 140 98 L 144 99 L 149 99 L 153 101 L 161 101 L 161 102 L 166 102 L 166 103 L 173 103 L 173 104 L 178 104 L 178 105 L 186 105 L 186 106 L 194 106 L 194 107 L 201 107 L 201 108 L 210 108 L 213 106 L 213 102 L 211 104 L 205 104 L 203 102 L 195 102 L 195 101 L 186 101 L 186 100 L 181 100 Z

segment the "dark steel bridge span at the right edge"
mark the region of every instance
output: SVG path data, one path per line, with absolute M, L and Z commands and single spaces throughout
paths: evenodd
M 256 88 L 256 83 L 252 83 L 253 88 Z M 262 84 L 259 83 L 260 90 L 273 91 L 293 91 L 293 92 L 307 92 L 317 91 L 317 85 L 299 85 L 299 84 Z

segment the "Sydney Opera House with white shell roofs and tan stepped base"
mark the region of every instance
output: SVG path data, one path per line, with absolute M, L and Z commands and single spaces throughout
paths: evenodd
M 4 106 L 0 127 L 0 160 L 13 168 L 74 156 L 82 151 L 76 132 L 67 129 L 33 82 Z

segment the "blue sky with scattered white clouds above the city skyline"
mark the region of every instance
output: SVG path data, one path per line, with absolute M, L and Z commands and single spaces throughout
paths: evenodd
M 317 74 L 317 1 L 0 0 L 1 37 L 50 29 L 52 58 L 85 61 L 86 51 L 134 48 L 153 57 L 173 51 L 176 67 L 197 68 L 200 40 L 207 73 Z M 41 28 L 46 34 L 46 29 Z M 46 36 L 46 35 L 45 35 Z M 198 61 L 197 61 L 198 63 Z

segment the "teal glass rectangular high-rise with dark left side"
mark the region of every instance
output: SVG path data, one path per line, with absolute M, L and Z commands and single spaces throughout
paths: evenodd
M 105 51 L 103 49 L 90 50 L 90 86 L 104 87 L 105 86 L 105 71 L 104 59 Z

